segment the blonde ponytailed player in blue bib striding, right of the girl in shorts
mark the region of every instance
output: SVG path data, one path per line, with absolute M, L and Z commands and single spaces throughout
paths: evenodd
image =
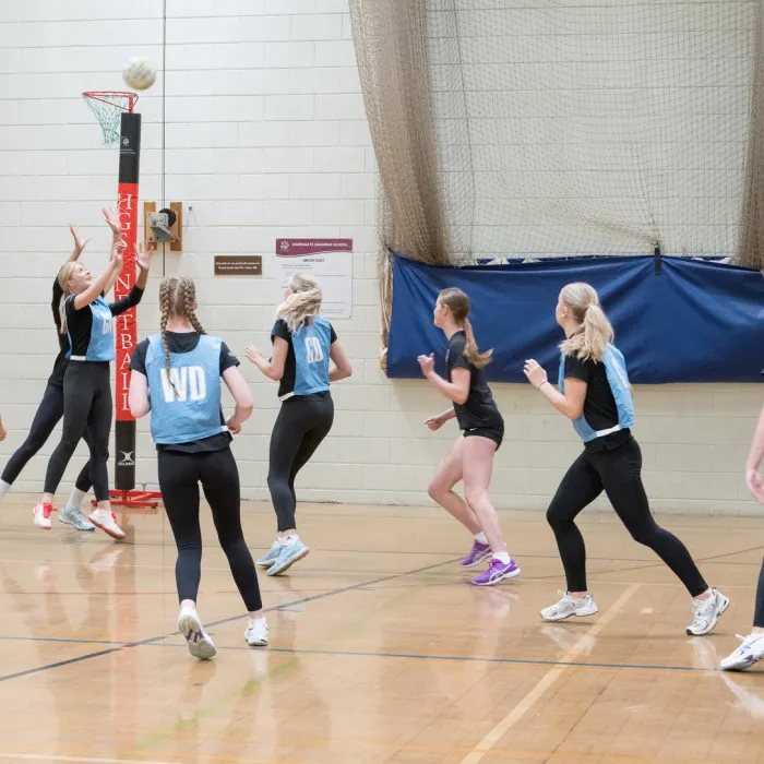
M 622 354 L 613 331 L 588 284 L 569 284 L 560 293 L 557 322 L 566 339 L 560 346 L 559 390 L 535 361 L 525 362 L 528 381 L 573 421 L 584 452 L 562 479 L 547 512 L 568 580 L 562 599 L 541 611 L 547 621 L 597 612 L 586 587 L 586 551 L 575 517 L 605 490 L 635 541 L 649 547 L 676 573 L 693 597 L 688 634 L 707 634 L 729 606 L 709 588 L 684 545 L 659 527 L 642 485 L 642 452 L 631 434 L 634 406 Z

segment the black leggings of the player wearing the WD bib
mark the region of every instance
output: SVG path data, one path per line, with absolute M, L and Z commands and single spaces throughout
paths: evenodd
M 159 490 L 178 547 L 175 580 L 178 599 L 196 601 L 202 577 L 202 530 L 199 525 L 199 484 L 212 510 L 223 551 L 228 558 L 247 610 L 263 607 L 258 573 L 241 532 L 239 470 L 231 450 L 186 454 L 160 451 Z

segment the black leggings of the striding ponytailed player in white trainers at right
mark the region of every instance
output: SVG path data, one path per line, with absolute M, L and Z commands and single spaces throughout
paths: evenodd
M 547 520 L 557 538 L 569 592 L 587 590 L 584 538 L 573 521 L 602 489 L 632 538 L 649 547 L 693 597 L 708 588 L 687 547 L 653 520 L 641 471 L 642 452 L 631 438 L 612 451 L 584 451 L 562 478 Z

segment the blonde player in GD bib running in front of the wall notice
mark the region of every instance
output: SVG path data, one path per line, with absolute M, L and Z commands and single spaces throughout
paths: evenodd
M 284 573 L 310 551 L 297 534 L 295 478 L 332 429 L 330 382 L 353 373 L 332 324 L 319 314 L 321 301 L 315 278 L 295 274 L 276 311 L 271 360 L 254 347 L 247 348 L 247 358 L 279 383 L 282 401 L 271 434 L 267 476 L 278 533 L 271 549 L 258 560 L 261 568 L 267 568 L 268 575 Z M 331 371 L 330 359 L 335 366 Z

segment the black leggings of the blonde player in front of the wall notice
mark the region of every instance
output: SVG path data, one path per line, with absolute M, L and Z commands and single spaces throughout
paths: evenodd
M 295 478 L 329 434 L 334 421 L 334 402 L 326 391 L 287 398 L 271 434 L 267 487 L 276 510 L 278 530 L 296 528 Z

